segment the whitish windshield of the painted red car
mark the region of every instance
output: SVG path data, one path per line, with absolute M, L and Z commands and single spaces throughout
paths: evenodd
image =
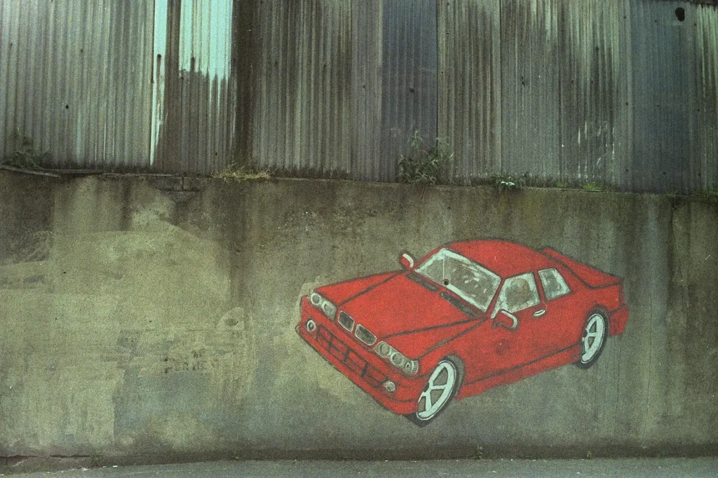
M 485 312 L 491 304 L 499 276 L 452 250 L 440 249 L 416 268 L 416 272 L 454 292 Z

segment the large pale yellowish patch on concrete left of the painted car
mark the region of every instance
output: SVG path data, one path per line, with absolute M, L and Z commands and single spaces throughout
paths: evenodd
M 136 428 L 154 429 L 155 439 L 175 449 L 191 448 L 190 430 L 204 423 L 192 407 L 239 406 L 251 384 L 255 348 L 246 314 L 228 301 L 228 251 L 169 222 L 174 204 L 151 188 L 120 188 L 119 198 L 109 189 L 90 181 L 61 191 L 73 200 L 55 217 L 70 223 L 32 233 L 37 240 L 0 267 L 0 415 L 2 449 L 10 454 L 92 453 L 118 439 L 134 446 L 116 416 L 128 376 L 202 376 L 200 386 L 211 393 L 174 415 L 144 408 L 139 416 L 143 408 L 134 403 Z M 151 200 L 131 201 L 148 192 Z M 115 209 L 127 217 L 126 229 L 95 230 L 95 222 L 100 229 L 114 222 L 108 216 Z

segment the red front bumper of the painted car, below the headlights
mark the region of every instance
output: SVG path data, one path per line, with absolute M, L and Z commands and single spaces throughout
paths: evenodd
M 399 415 L 416 412 L 426 377 L 408 378 L 393 370 L 381 357 L 355 340 L 350 332 L 315 309 L 306 296 L 302 297 L 299 307 L 302 316 L 297 325 L 299 337 L 384 408 Z M 312 332 L 306 327 L 309 319 L 317 324 Z M 383 386 L 387 380 L 396 385 L 393 393 Z

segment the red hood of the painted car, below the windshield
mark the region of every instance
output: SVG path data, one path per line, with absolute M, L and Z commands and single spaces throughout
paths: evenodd
M 356 324 L 363 325 L 378 340 L 421 331 L 431 334 L 436 330 L 438 342 L 441 340 L 439 336 L 443 335 L 438 329 L 468 324 L 483 317 L 482 314 L 467 314 L 455 304 L 457 299 L 452 303 L 447 297 L 443 287 L 433 283 L 428 283 L 427 287 L 401 273 L 353 296 L 340 304 L 339 310 L 349 314 Z

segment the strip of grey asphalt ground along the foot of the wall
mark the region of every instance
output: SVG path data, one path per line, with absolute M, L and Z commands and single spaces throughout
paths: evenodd
M 8 475 L 9 476 L 9 475 Z M 109 465 L 13 477 L 718 477 L 715 458 L 475 459 L 433 461 L 212 461 Z

